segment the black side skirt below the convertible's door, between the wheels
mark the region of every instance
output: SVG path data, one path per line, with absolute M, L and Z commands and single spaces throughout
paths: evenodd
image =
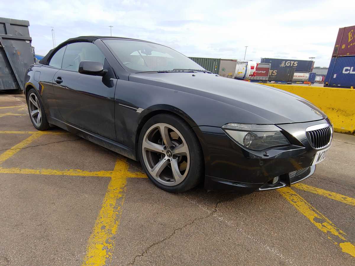
M 69 124 L 69 123 L 60 121 L 60 120 L 53 118 L 53 117 L 50 117 L 49 120 L 50 121 L 48 121 L 48 122 L 50 124 L 54 124 L 64 130 L 69 131 L 73 134 L 76 134 L 86 140 L 89 140 L 95 144 L 98 144 L 98 145 L 103 146 L 109 150 L 112 150 L 115 153 L 121 154 L 125 157 L 132 159 L 132 160 L 139 161 L 139 159 L 137 159 L 137 157 L 136 157 L 136 151 L 132 150 L 131 148 L 129 148 L 125 145 L 122 145 L 122 144 L 115 142 L 111 139 L 102 137 L 98 134 L 86 131 L 85 129 L 74 126 L 73 124 Z

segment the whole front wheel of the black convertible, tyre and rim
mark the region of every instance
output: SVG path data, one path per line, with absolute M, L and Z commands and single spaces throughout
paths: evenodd
M 139 157 L 148 178 L 167 192 L 184 192 L 203 180 L 200 143 L 189 124 L 178 116 L 159 114 L 144 124 Z

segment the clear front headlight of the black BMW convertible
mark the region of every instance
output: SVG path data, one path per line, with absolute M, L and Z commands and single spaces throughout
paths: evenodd
M 282 129 L 271 124 L 229 123 L 222 128 L 237 143 L 250 150 L 264 150 L 290 144 L 280 132 Z

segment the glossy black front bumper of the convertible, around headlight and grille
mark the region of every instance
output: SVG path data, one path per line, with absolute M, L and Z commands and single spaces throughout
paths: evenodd
M 195 127 L 204 154 L 205 188 L 252 193 L 289 186 L 310 177 L 315 172 L 316 167 L 311 164 L 317 150 L 308 142 L 305 129 L 321 123 L 331 124 L 326 118 L 277 125 L 283 129 L 291 145 L 262 151 L 242 147 L 222 128 Z M 299 172 L 295 175 L 294 171 Z M 273 184 L 275 177 L 278 181 Z

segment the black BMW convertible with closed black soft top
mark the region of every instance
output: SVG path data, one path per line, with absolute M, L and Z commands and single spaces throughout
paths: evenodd
M 332 143 L 331 121 L 311 102 L 149 41 L 69 39 L 28 69 L 24 88 L 35 128 L 58 126 L 140 161 L 167 192 L 290 186 Z

